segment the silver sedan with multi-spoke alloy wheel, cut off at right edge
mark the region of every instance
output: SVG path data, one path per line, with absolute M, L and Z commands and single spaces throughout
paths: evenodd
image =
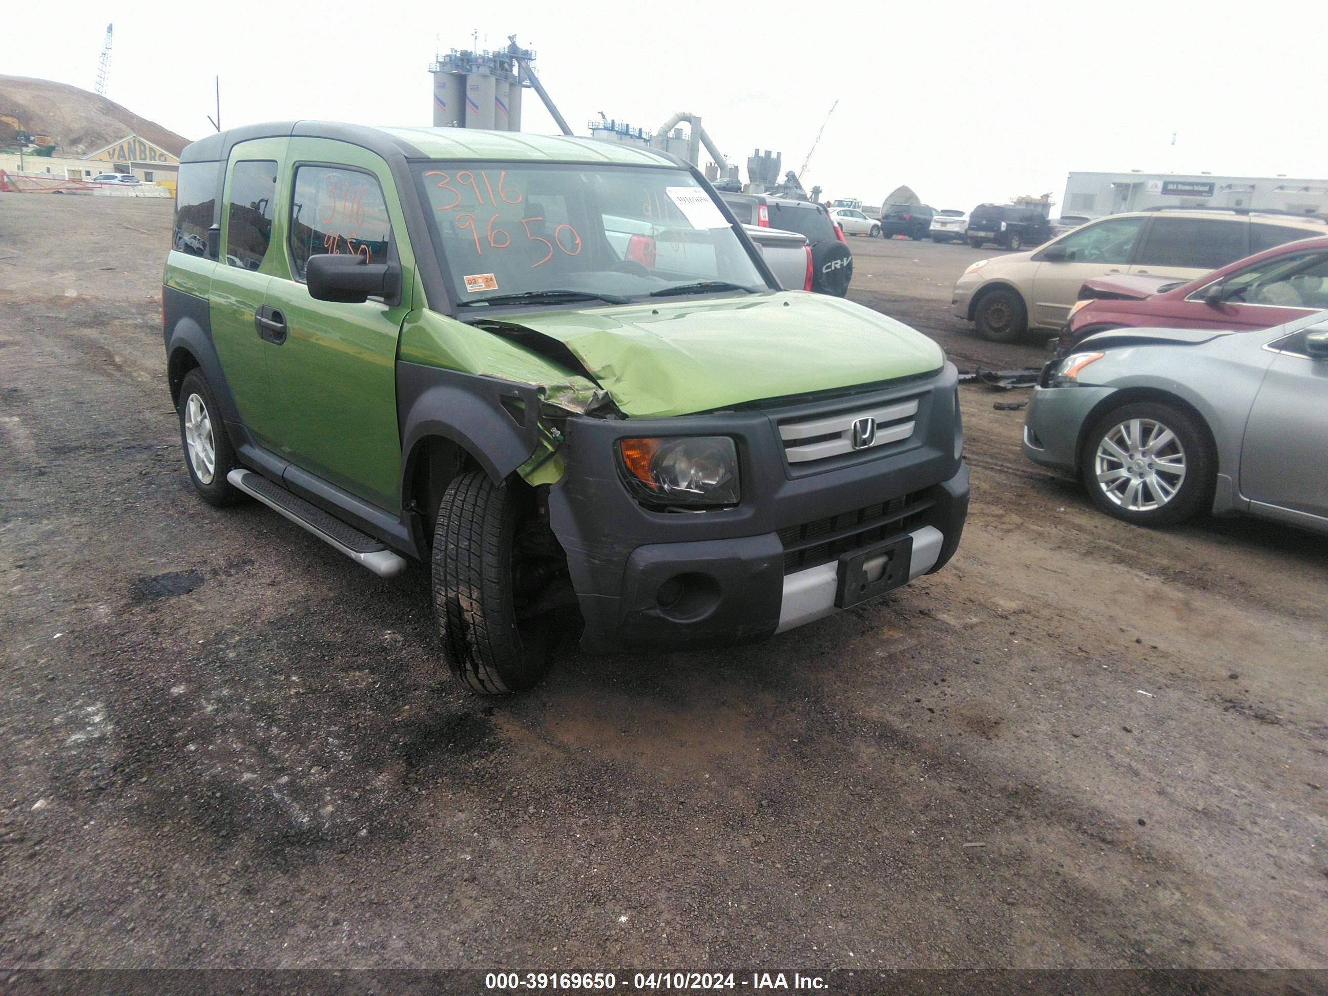
M 1089 336 L 1044 368 L 1024 453 L 1139 526 L 1207 509 L 1328 533 L 1328 312 Z

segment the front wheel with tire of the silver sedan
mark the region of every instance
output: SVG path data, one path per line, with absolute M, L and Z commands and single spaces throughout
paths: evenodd
M 1080 477 L 1108 515 L 1135 526 L 1170 526 L 1211 505 L 1216 459 L 1198 418 L 1173 405 L 1139 401 L 1094 422 L 1080 454 Z

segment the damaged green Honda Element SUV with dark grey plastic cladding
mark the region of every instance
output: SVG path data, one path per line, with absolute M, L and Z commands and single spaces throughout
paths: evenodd
M 691 166 L 579 138 L 254 125 L 181 157 L 163 324 L 203 501 L 382 576 L 527 688 L 555 640 L 729 645 L 939 570 L 968 509 L 942 351 L 781 291 Z

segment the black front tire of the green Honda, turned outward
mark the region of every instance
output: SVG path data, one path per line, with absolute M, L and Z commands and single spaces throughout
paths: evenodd
M 453 677 L 481 695 L 521 692 L 548 671 L 552 620 L 517 611 L 517 538 L 530 498 L 475 470 L 453 478 L 438 505 L 433 604 L 442 652 Z

